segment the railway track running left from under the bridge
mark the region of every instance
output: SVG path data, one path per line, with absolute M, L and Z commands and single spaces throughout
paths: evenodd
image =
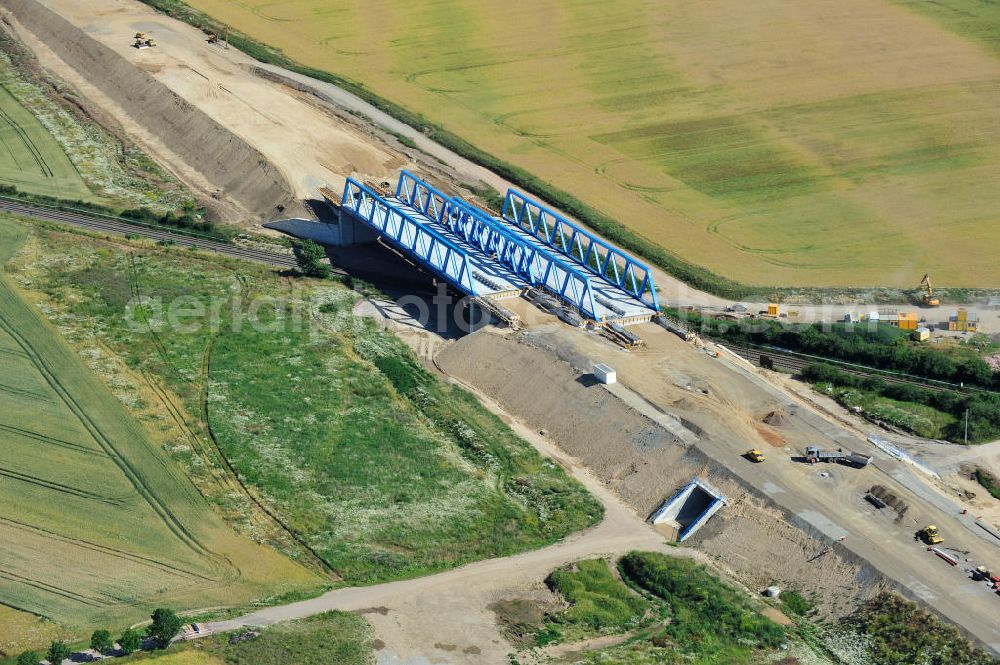
M 162 240 L 175 242 L 197 247 L 209 252 L 214 252 L 222 256 L 236 259 L 245 259 L 265 263 L 279 268 L 295 268 L 295 257 L 279 252 L 269 252 L 267 250 L 253 249 L 250 247 L 240 247 L 219 240 L 205 238 L 196 234 L 170 231 L 162 227 L 150 226 L 131 221 L 124 221 L 116 217 L 99 215 L 75 210 L 65 210 L 54 206 L 46 206 L 34 203 L 22 203 L 9 198 L 0 198 L 0 211 L 9 212 L 25 217 L 34 217 L 47 222 L 58 222 L 60 224 L 70 224 L 90 231 L 101 233 L 111 233 L 120 236 L 136 235 L 151 240 Z

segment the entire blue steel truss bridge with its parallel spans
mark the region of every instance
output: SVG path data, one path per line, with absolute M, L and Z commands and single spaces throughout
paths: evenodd
M 503 215 L 491 214 L 403 171 L 394 194 L 348 179 L 340 207 L 469 296 L 541 288 L 599 322 L 657 312 L 644 264 L 519 192 L 506 201 Z

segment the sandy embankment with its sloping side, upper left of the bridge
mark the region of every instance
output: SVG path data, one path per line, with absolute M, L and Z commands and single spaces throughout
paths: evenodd
M 336 118 L 309 95 L 255 75 L 252 58 L 234 48 L 210 45 L 201 31 L 141 3 L 4 0 L 0 7 L 11 10 L 19 36 L 43 66 L 77 88 L 204 195 L 225 198 L 229 189 L 238 188 L 237 182 L 226 184 L 229 170 L 247 169 L 249 179 L 255 171 L 273 167 L 287 181 L 293 198 L 305 199 L 319 198 L 317 190 L 323 185 L 342 188 L 345 177 L 352 174 L 383 179 L 408 165 L 404 157 Z M 58 20 L 46 16 L 46 9 L 82 34 L 70 34 Z M 146 33 L 157 45 L 134 48 L 137 32 Z M 97 58 L 101 66 L 95 66 Z M 136 71 L 129 71 L 125 63 Z M 177 98 L 150 90 L 137 99 L 136 89 L 149 87 L 143 74 Z M 176 108 L 184 103 L 218 126 L 207 127 L 209 121 L 200 118 L 185 126 L 189 116 Z M 259 151 L 266 163 L 227 159 L 225 144 L 234 140 L 233 135 Z M 198 144 L 188 145 L 189 137 L 198 137 Z M 203 159 L 199 148 L 212 157 L 219 151 L 218 157 Z M 255 201 L 250 196 L 242 199 L 236 210 L 228 211 L 231 217 L 238 218 L 241 208 L 251 215 L 269 212 L 247 210 Z

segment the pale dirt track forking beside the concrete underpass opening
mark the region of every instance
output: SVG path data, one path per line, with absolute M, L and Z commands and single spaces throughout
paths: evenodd
M 543 454 L 559 461 L 600 499 L 605 509 L 601 524 L 534 552 L 481 561 L 415 580 L 338 589 L 312 600 L 202 624 L 201 633 L 189 637 L 245 626 L 267 626 L 336 609 L 366 615 L 375 629 L 379 665 L 501 664 L 509 662 L 512 647 L 501 635 L 489 606 L 499 600 L 546 594 L 544 580 L 559 566 L 586 558 L 619 556 L 636 549 L 707 562 L 699 552 L 667 546 L 659 534 L 586 469 L 537 433 L 517 425 L 515 429 Z

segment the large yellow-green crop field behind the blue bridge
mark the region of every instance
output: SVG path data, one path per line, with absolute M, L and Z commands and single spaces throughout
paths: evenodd
M 189 4 L 741 282 L 1000 286 L 996 3 Z

